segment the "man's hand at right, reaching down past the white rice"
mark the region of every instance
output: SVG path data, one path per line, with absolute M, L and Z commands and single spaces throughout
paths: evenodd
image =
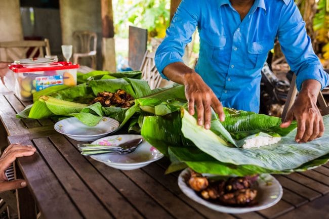
M 287 113 L 285 121 L 280 127 L 288 127 L 294 118 L 297 120 L 296 142 L 308 142 L 323 135 L 323 118 L 316 106 L 317 96 L 321 84 L 317 80 L 309 79 L 303 82 L 302 90 Z

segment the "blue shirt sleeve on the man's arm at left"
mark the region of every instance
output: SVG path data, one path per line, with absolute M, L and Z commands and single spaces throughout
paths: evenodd
M 168 79 L 163 69 L 174 62 L 183 62 L 184 50 L 192 39 L 192 34 L 198 23 L 200 7 L 199 0 L 182 0 L 173 17 L 166 37 L 155 53 L 155 65 L 163 78 Z

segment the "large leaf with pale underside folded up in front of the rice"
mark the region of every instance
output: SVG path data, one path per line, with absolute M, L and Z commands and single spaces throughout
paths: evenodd
M 283 171 L 295 169 L 302 164 L 312 161 L 329 153 L 329 132 L 312 142 L 298 144 L 294 137 L 297 130 L 282 137 L 277 144 L 261 148 L 241 149 L 228 147 L 223 139 L 198 126 L 193 116 L 182 110 L 182 133 L 191 140 L 201 151 L 223 163 L 234 165 L 256 165 L 262 168 Z M 329 116 L 324 116 L 324 124 L 329 128 Z

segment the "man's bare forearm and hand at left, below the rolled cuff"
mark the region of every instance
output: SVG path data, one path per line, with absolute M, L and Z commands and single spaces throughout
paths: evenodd
M 210 128 L 211 107 L 219 115 L 220 120 L 224 121 L 225 115 L 222 104 L 210 87 L 204 83 L 201 76 L 193 69 L 182 62 L 174 62 L 163 69 L 163 74 L 170 80 L 185 86 L 188 111 L 194 115 L 194 105 L 196 106 L 199 125 L 204 123 L 204 128 Z

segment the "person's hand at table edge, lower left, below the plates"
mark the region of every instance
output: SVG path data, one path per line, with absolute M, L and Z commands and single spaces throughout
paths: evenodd
M 26 186 L 24 180 L 8 181 L 6 170 L 16 160 L 17 157 L 31 156 L 35 152 L 31 145 L 21 145 L 20 143 L 9 145 L 0 157 L 0 193 L 8 190 L 19 189 Z

